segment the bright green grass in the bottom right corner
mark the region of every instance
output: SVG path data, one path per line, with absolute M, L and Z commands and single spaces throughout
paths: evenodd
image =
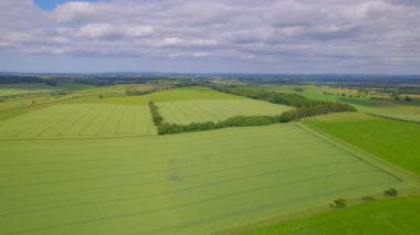
M 291 221 L 246 234 L 417 234 L 420 197 L 403 197 Z

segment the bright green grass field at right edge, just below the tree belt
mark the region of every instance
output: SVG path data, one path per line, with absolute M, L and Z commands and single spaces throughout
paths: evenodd
M 304 119 L 303 122 L 420 174 L 420 125 L 418 124 L 358 113 L 318 116 Z

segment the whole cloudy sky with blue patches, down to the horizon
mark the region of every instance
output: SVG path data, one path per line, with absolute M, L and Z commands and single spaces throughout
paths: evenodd
M 0 0 L 0 71 L 420 74 L 418 0 Z

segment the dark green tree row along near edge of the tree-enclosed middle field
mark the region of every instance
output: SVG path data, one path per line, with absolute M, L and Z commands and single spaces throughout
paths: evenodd
M 213 130 L 227 127 L 250 127 L 266 126 L 279 122 L 279 116 L 235 116 L 218 122 L 192 122 L 189 125 L 160 124 L 158 126 L 159 135 L 180 133 L 202 130 Z

